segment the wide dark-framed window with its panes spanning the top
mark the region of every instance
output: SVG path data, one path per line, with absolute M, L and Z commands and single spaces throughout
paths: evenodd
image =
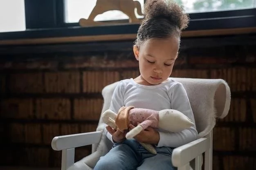
M 137 33 L 139 24 L 124 24 L 128 23 L 128 16 L 121 11 L 107 11 L 97 15 L 94 21 L 119 20 L 117 22 L 122 24 L 79 26 L 79 19 L 87 19 L 99 1 L 101 0 L 1 0 L 0 40 Z M 137 1 L 143 9 L 144 0 Z M 186 31 L 235 28 L 254 30 L 256 27 L 256 0 L 175 1 L 190 15 L 191 20 Z M 135 15 L 136 13 L 137 8 Z M 143 16 L 137 14 L 137 17 Z

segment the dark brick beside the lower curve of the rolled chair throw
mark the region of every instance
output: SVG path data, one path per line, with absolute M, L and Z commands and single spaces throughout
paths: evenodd
M 228 115 L 220 121 L 246 121 L 246 100 L 239 98 L 231 98 L 230 109 Z

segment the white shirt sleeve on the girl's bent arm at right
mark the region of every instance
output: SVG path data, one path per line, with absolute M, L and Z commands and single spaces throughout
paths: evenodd
M 168 95 L 171 99 L 171 108 L 180 111 L 195 124 L 195 118 L 189 102 L 189 98 L 186 91 L 181 83 L 173 84 Z M 198 136 L 195 125 L 189 129 L 182 130 L 181 132 L 159 132 L 159 142 L 157 147 L 168 146 L 168 147 L 179 147 L 195 140 Z

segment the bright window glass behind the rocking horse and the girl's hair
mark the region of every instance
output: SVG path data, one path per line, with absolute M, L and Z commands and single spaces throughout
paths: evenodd
M 144 7 L 144 0 L 138 0 L 141 9 Z M 80 18 L 88 19 L 97 0 L 65 0 L 65 22 L 75 23 Z M 184 7 L 186 13 L 204 13 L 213 11 L 231 11 L 240 9 L 252 9 L 256 7 L 256 0 L 175 0 L 177 4 Z M 137 14 L 137 18 L 143 18 Z M 107 11 L 96 16 L 94 21 L 122 20 L 128 16 L 121 11 Z

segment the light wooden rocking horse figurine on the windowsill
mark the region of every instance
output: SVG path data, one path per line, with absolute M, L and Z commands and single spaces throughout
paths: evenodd
M 143 15 L 141 11 L 141 4 L 139 1 L 133 0 L 97 0 L 96 5 L 89 18 L 86 20 L 81 18 L 79 20 L 80 26 L 92 26 L 92 25 L 102 25 L 106 22 L 95 22 L 94 18 L 106 11 L 118 10 L 122 11 L 129 17 L 129 23 L 138 23 L 139 19 L 135 16 L 134 9 L 137 8 L 137 13 Z M 111 22 L 113 24 L 113 22 Z

